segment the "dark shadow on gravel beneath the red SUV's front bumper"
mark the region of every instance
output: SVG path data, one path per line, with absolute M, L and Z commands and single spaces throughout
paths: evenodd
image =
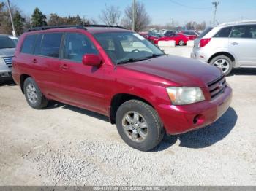
M 152 152 L 162 151 L 171 147 L 179 139 L 180 147 L 200 149 L 209 147 L 227 136 L 235 127 L 238 116 L 236 111 L 230 107 L 227 112 L 214 122 L 214 124 L 176 136 L 165 136 L 163 141 Z

